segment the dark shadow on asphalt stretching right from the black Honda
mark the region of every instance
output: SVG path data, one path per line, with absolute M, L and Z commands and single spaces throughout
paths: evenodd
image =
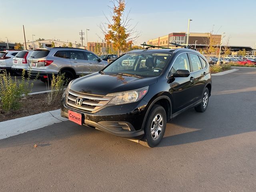
M 158 147 L 174 146 L 256 131 L 256 92 L 212 94 L 208 109 L 190 109 L 167 123 Z M 252 97 L 248 94 L 251 94 Z M 239 99 L 242 101 L 239 102 Z M 228 139 L 228 138 L 227 138 Z

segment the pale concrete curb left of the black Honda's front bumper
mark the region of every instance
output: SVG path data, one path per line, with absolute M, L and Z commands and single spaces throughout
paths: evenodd
M 60 109 L 0 122 L 0 139 L 40 129 L 68 120 L 60 116 Z

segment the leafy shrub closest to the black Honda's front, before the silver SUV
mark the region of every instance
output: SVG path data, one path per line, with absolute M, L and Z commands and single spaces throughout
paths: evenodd
M 52 74 L 51 83 L 48 81 L 48 84 L 46 84 L 47 90 L 49 90 L 46 94 L 47 105 L 52 105 L 56 98 L 63 94 L 65 84 L 65 74 L 57 74 L 56 76 Z

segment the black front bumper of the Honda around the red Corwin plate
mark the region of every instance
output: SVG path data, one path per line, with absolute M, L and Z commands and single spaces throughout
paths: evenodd
M 68 110 L 72 110 L 82 114 L 84 125 L 115 136 L 138 140 L 144 135 L 142 124 L 146 115 L 146 105 L 147 102 L 140 100 L 124 105 L 106 105 L 98 112 L 89 113 L 67 106 L 62 96 L 61 116 L 68 118 Z

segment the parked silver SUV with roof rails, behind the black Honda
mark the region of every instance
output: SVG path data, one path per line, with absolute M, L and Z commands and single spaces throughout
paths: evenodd
M 94 53 L 79 48 L 38 48 L 28 58 L 32 76 L 39 73 L 42 82 L 52 74 L 65 73 L 67 79 L 90 74 L 104 68 L 108 62 Z

